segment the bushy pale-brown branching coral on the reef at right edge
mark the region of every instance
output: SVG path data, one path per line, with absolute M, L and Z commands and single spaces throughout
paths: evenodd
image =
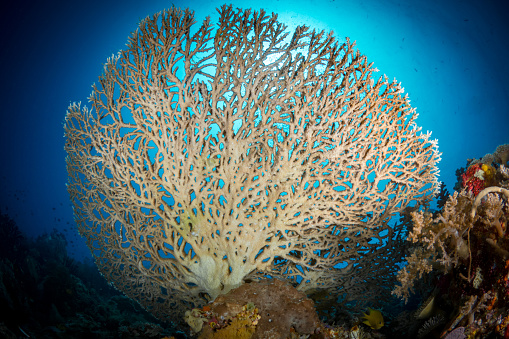
M 501 194 L 505 200 L 494 193 Z M 474 241 L 479 248 L 489 244 L 493 253 L 506 259 L 509 252 L 498 245 L 498 241 L 506 242 L 506 201 L 509 201 L 509 190 L 488 187 L 475 199 L 466 191 L 455 192 L 436 217 L 424 211 L 413 212 L 414 225 L 408 240 L 418 246 L 407 257 L 408 265 L 398 273 L 400 285 L 395 287 L 393 294 L 407 300 L 415 279 L 433 268 L 450 272 L 462 263 L 468 267 L 468 274 L 463 277 L 473 283 L 472 261 L 474 257 L 477 261 L 482 260 L 479 255 L 472 255 Z

